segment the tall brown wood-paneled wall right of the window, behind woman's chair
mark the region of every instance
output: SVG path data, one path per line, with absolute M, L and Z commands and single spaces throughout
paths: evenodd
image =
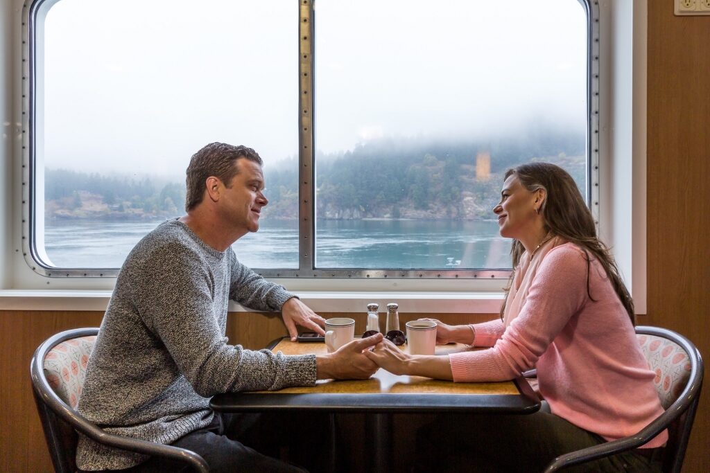
M 648 2 L 648 318 L 710 357 L 710 16 Z M 706 361 L 707 363 L 707 361 Z M 709 472 L 710 379 L 684 472 Z

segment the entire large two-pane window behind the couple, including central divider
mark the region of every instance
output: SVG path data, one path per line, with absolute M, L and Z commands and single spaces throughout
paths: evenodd
M 217 140 L 265 161 L 270 204 L 234 249 L 267 276 L 507 277 L 491 209 L 503 172 L 530 160 L 565 167 L 596 211 L 589 3 L 317 13 L 310 0 L 35 2 L 35 270 L 115 275 L 183 213 L 190 155 Z

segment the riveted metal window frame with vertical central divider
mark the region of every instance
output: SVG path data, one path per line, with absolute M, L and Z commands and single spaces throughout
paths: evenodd
M 26 263 L 44 277 L 116 277 L 118 268 L 57 268 L 45 264 L 43 245 L 43 168 L 38 150 L 43 146 L 42 116 L 38 103 L 43 94 L 43 19 L 60 0 L 28 0 L 23 5 L 22 45 L 22 244 Z M 508 279 L 510 269 L 316 269 L 315 268 L 315 148 L 313 111 L 314 0 L 299 1 L 299 269 L 258 269 L 268 278 L 284 279 Z M 570 0 L 572 1 L 572 0 Z M 578 0 L 587 24 L 587 160 L 586 197 L 599 226 L 599 2 Z M 498 282 L 500 285 L 500 282 Z M 479 284 L 481 287 L 489 284 Z

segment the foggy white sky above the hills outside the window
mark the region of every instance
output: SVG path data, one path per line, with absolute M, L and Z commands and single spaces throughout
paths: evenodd
M 296 0 L 60 0 L 45 21 L 45 165 L 184 176 L 211 141 L 297 154 Z M 316 138 L 584 129 L 577 0 L 318 0 Z

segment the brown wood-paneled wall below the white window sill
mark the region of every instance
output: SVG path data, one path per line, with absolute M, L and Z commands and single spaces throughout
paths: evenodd
M 349 316 L 321 313 L 324 317 Z M 32 397 L 30 359 L 34 350 L 55 333 L 69 328 L 98 327 L 102 312 L 0 311 L 0 472 L 52 472 L 52 464 Z M 351 315 L 356 331 L 365 330 L 365 313 Z M 419 318 L 400 314 L 400 324 Z M 481 322 L 492 318 L 476 314 L 440 314 L 448 323 Z M 384 323 L 384 322 L 383 322 Z M 230 313 L 230 343 L 263 348 L 287 331 L 277 314 Z

